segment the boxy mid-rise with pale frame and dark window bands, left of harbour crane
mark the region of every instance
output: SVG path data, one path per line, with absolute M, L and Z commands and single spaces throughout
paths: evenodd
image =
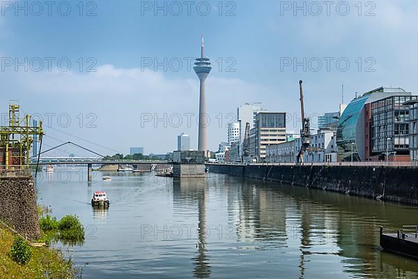
M 255 135 L 255 153 L 258 160 L 265 160 L 266 146 L 281 142 L 286 142 L 286 113 L 258 112 Z

